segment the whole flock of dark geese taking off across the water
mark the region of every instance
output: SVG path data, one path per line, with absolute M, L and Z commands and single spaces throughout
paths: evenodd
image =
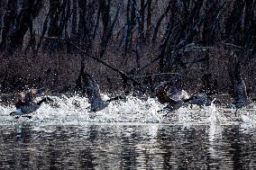
M 231 104 L 233 108 L 241 109 L 243 106 L 246 106 L 252 102 L 252 100 L 247 96 L 246 86 L 242 79 L 240 66 L 235 67 L 235 71 L 230 74 L 232 80 L 232 97 L 233 103 Z M 104 101 L 100 95 L 99 85 L 96 84 L 96 81 L 84 72 L 82 74 L 82 79 L 84 81 L 88 102 L 90 103 L 90 111 L 97 112 L 107 105 L 114 101 L 123 99 L 123 97 L 114 97 L 110 100 Z M 32 118 L 30 113 L 35 112 L 41 106 L 41 103 L 52 101 L 49 97 L 44 97 L 41 101 L 35 103 L 34 99 L 36 96 L 44 94 L 45 89 L 31 89 L 29 91 L 24 91 L 18 94 L 18 101 L 15 103 L 16 111 L 11 112 L 10 115 L 15 116 L 15 118 L 19 117 L 27 117 Z M 164 110 L 169 112 L 173 112 L 178 110 L 181 106 L 185 104 L 196 104 L 198 106 L 208 106 L 211 103 L 216 103 L 215 99 L 212 98 L 211 94 L 207 93 L 198 93 L 189 96 L 187 92 L 183 89 L 183 84 L 181 80 L 175 81 L 165 81 L 160 85 L 155 87 L 155 96 L 158 101 L 162 104 L 167 104 Z

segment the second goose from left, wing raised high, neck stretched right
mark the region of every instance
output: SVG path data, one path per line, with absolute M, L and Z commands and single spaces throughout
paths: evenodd
M 96 84 L 96 81 L 93 79 L 93 77 L 90 76 L 86 71 L 83 71 L 82 78 L 85 83 L 88 102 L 91 104 L 90 112 L 98 112 L 105 109 L 105 107 L 107 107 L 110 102 L 124 99 L 122 96 L 116 96 L 104 101 L 100 95 L 99 85 Z

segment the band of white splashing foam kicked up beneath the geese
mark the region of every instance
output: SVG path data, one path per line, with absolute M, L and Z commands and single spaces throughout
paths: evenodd
M 242 124 L 246 128 L 253 128 L 256 122 L 256 106 L 242 109 L 238 112 L 239 121 L 234 118 L 233 109 L 218 108 L 214 104 L 199 108 L 197 106 L 184 106 L 176 112 L 163 116 L 166 112 L 158 112 L 164 105 L 154 98 L 142 100 L 133 96 L 127 96 L 125 101 L 110 103 L 104 110 L 89 112 L 87 97 L 65 95 L 50 96 L 54 103 L 43 103 L 41 108 L 32 114 L 32 119 L 20 118 L 15 120 L 9 116 L 15 110 L 14 105 L 4 106 L 0 104 L 0 124 L 14 124 L 17 122 L 36 123 L 46 125 L 69 125 L 83 123 L 155 123 L 161 125 L 229 125 Z M 108 96 L 103 94 L 106 100 Z

